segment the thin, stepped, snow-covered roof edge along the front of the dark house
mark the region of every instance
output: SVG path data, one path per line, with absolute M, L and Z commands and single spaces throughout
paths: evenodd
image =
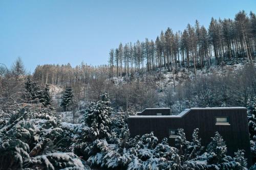
M 134 115 L 129 118 L 181 118 L 191 110 L 234 110 L 234 109 L 246 109 L 245 107 L 205 107 L 205 108 L 190 108 L 185 109 L 178 115 Z

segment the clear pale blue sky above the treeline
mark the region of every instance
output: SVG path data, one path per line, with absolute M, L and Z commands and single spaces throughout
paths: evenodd
M 233 18 L 239 10 L 255 13 L 256 0 L 0 0 L 0 63 L 21 57 L 30 72 L 38 64 L 106 64 L 120 42 L 155 40 L 196 19 L 208 27 L 212 16 Z

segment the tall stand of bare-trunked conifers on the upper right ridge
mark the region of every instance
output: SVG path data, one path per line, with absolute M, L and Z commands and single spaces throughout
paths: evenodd
M 211 18 L 209 28 L 187 25 L 184 31 L 173 32 L 167 28 L 156 40 L 136 43 L 120 43 L 110 50 L 110 77 L 129 75 L 133 72 L 143 74 L 155 68 L 174 70 L 185 66 L 203 68 L 212 63 L 223 64 L 230 59 L 246 57 L 252 62 L 256 50 L 256 17 L 240 11 L 234 20 Z

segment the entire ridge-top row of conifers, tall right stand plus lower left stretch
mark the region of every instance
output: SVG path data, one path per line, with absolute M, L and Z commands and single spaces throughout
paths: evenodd
M 38 65 L 34 78 L 42 84 L 74 86 L 92 80 L 143 75 L 164 67 L 177 71 L 186 67 L 197 75 L 197 69 L 212 64 L 225 64 L 245 58 L 252 62 L 256 54 L 256 17 L 253 12 L 238 12 L 234 19 L 211 18 L 208 29 L 196 20 L 183 31 L 167 28 L 156 40 L 125 43 L 112 48 L 109 64 L 91 66 L 85 63 L 72 68 L 67 65 Z M 161 72 L 161 69 L 159 70 Z

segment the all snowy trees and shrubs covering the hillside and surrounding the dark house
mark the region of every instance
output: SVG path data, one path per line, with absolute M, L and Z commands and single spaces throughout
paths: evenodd
M 202 146 L 200 129 L 193 141 L 180 129 L 171 147 L 153 132 L 130 138 L 127 116 L 149 107 L 247 107 L 255 162 L 255 27 L 255 14 L 240 11 L 212 18 L 208 29 L 196 21 L 156 41 L 120 43 L 108 65 L 38 65 L 28 74 L 21 58 L 11 68 L 0 63 L 0 170 L 247 169 L 244 152 L 227 156 L 218 132 Z

